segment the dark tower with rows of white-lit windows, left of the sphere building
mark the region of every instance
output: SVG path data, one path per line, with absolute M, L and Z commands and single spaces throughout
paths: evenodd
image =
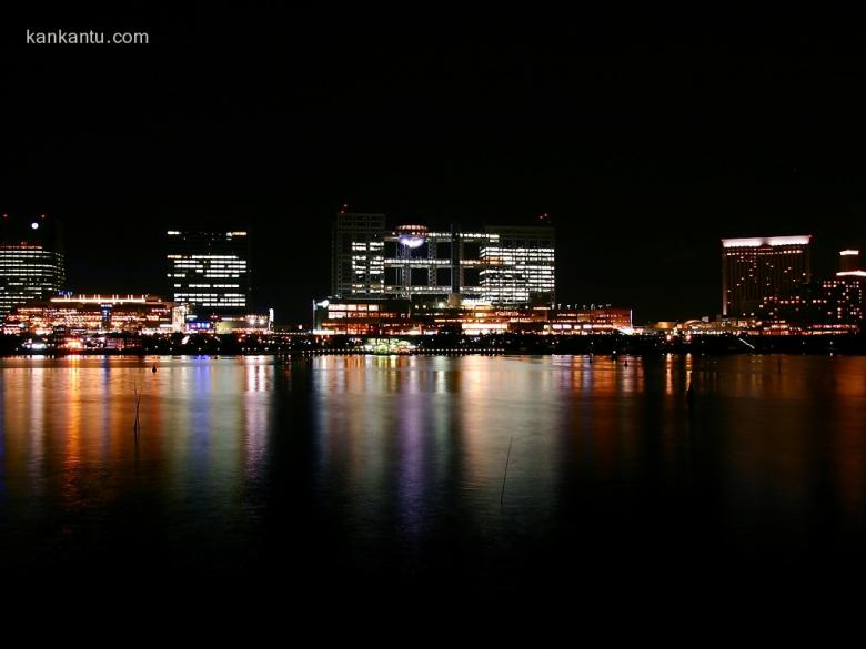
M 239 315 L 250 297 L 250 246 L 240 227 L 168 231 L 169 294 L 191 315 Z

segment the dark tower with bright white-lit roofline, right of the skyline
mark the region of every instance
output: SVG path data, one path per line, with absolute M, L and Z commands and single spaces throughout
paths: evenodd
M 812 281 L 812 235 L 722 240 L 722 314 L 754 316 L 767 297 Z

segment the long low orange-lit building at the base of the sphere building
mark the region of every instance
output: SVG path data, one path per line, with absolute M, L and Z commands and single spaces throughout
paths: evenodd
M 313 304 L 314 332 L 345 335 L 536 333 L 582 335 L 632 331 L 630 308 L 449 307 L 406 298 L 333 298 Z

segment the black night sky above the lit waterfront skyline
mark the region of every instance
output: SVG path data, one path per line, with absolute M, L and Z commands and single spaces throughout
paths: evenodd
M 866 246 L 856 30 L 281 4 L 0 20 L 0 204 L 63 220 L 71 288 L 161 292 L 168 226 L 240 221 L 255 305 L 305 321 L 342 203 L 464 229 L 548 212 L 560 300 L 637 322 L 718 312 L 719 236 L 812 233 L 818 274 Z

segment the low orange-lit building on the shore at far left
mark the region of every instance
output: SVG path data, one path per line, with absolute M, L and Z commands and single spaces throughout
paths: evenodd
M 3 321 L 3 333 L 83 335 L 170 333 L 172 303 L 153 295 L 70 295 L 20 305 Z

